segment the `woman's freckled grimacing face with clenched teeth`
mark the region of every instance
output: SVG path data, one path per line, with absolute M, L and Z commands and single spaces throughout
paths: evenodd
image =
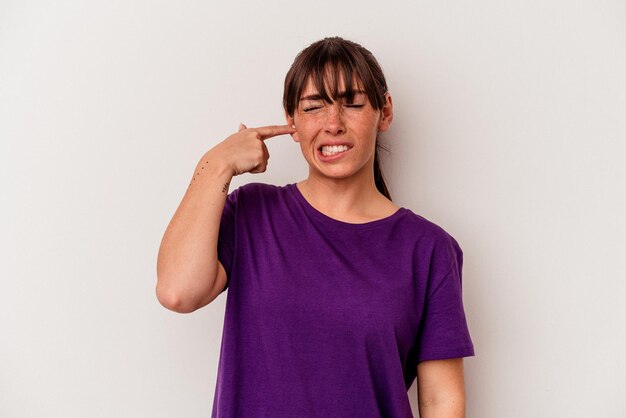
M 355 89 L 352 102 L 344 92 L 342 82 L 337 99 L 325 102 L 309 79 L 293 118 L 287 118 L 296 126 L 292 136 L 309 164 L 309 177 L 373 173 L 376 135 L 386 131 L 393 119 L 391 97 L 387 94 L 383 109 L 375 110 L 362 89 Z

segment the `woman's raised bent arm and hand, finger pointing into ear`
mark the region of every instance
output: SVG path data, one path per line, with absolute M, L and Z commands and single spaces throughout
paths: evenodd
M 163 306 L 188 313 L 222 292 L 226 272 L 217 240 L 230 181 L 237 174 L 264 172 L 269 154 L 263 141 L 293 132 L 289 126 L 242 125 L 202 156 L 159 248 L 156 293 Z

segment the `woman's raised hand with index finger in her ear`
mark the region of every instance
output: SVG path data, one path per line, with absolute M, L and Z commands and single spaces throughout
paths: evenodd
M 239 124 L 239 132 L 230 135 L 210 152 L 217 161 L 229 165 L 234 176 L 243 173 L 263 173 L 270 158 L 264 141 L 278 135 L 295 133 L 289 125 L 248 128 Z

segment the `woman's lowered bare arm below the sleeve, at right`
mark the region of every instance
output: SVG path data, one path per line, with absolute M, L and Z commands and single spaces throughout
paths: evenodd
M 417 395 L 421 418 L 464 418 L 463 359 L 419 363 Z

